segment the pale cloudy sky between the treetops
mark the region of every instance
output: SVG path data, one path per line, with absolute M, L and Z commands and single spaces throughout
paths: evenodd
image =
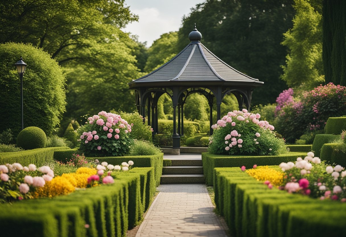
M 125 32 L 139 36 L 147 47 L 160 38 L 160 35 L 179 30 L 184 15 L 190 8 L 204 0 L 125 0 L 130 11 L 139 16 L 138 22 L 128 24 Z M 194 26 L 191 26 L 191 30 Z M 186 36 L 187 37 L 187 36 Z

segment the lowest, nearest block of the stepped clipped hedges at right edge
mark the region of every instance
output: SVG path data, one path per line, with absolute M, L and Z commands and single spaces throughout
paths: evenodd
M 328 164 L 337 164 L 346 167 L 346 149 L 344 144 L 327 143 L 322 146 L 320 159 Z

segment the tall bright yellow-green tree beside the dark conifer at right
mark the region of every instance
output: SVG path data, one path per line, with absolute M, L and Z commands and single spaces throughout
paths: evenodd
M 284 33 L 289 53 L 282 79 L 289 87 L 310 90 L 324 83 L 322 0 L 294 0 L 293 28 Z

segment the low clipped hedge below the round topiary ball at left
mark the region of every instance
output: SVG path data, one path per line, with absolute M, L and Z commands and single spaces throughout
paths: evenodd
M 23 166 L 34 164 L 43 166 L 47 162 L 52 162 L 54 152 L 57 150 L 68 150 L 69 147 L 46 147 L 33 150 L 17 151 L 17 152 L 2 152 L 0 153 L 0 164 L 18 162 Z

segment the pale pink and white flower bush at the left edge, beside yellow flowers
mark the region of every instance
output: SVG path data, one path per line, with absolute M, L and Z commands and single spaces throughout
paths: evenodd
M 0 202 L 33 198 L 36 188 L 43 187 L 53 177 L 54 172 L 49 166 L 0 165 Z

